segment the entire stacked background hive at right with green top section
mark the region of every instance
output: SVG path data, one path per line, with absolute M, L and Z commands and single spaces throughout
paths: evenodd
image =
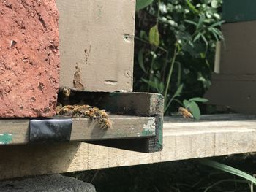
M 222 25 L 225 41 L 217 48 L 217 72 L 206 92 L 209 104 L 235 112 L 256 112 L 256 14 L 255 1 L 224 1 Z

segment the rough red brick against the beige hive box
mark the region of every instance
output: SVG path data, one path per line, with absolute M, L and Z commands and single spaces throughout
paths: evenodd
M 59 88 L 55 0 L 0 1 L 0 117 L 55 115 Z

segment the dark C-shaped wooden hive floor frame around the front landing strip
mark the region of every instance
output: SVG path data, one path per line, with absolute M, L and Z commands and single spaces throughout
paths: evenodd
M 70 98 L 70 104 L 90 104 L 106 109 L 114 114 L 152 116 L 156 118 L 155 137 L 134 140 L 131 145 L 127 141 L 113 140 L 108 142 L 94 142 L 97 145 L 118 146 L 118 148 L 139 150 L 140 152 L 152 153 L 162 150 L 162 125 L 164 99 L 157 93 L 100 93 L 75 91 Z M 138 148 L 138 146 L 140 146 Z

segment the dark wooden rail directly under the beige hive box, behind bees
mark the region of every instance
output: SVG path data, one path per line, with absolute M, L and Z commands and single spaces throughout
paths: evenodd
M 163 113 L 163 96 L 157 93 L 102 93 L 75 91 L 70 104 L 89 104 L 113 114 L 154 116 Z

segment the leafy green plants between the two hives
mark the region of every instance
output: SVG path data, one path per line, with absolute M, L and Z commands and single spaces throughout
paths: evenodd
M 138 0 L 134 90 L 162 93 L 165 115 L 197 105 L 211 85 L 215 45 L 223 39 L 222 0 Z

